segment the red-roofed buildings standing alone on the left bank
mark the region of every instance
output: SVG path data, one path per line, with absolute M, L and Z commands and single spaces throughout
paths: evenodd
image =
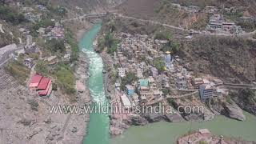
M 40 97 L 49 96 L 52 91 L 52 82 L 50 78 L 42 77 L 40 74 L 34 74 L 31 78 L 29 89 L 37 92 Z

